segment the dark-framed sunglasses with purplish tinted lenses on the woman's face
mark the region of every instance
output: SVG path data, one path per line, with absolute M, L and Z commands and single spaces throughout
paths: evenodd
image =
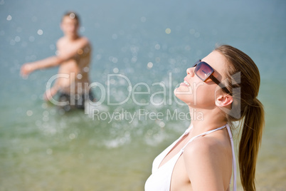
M 211 79 L 214 83 L 218 84 L 218 86 L 220 86 L 225 93 L 231 94 L 228 89 L 223 86 L 223 84 L 218 81 L 216 77 L 213 76 L 214 70 L 208 65 L 208 63 L 198 60 L 193 67 L 196 67 L 194 73 L 196 73 L 196 76 L 198 76 L 198 78 L 200 78 L 203 82 Z

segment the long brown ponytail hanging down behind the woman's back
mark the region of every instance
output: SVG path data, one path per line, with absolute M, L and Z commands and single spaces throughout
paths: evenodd
M 239 143 L 240 180 L 244 190 L 255 190 L 255 165 L 264 127 L 263 104 L 255 98 L 245 108 L 245 118 Z

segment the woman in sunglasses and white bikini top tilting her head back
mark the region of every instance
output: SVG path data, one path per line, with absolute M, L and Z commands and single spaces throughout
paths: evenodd
M 232 46 L 218 46 L 186 70 L 174 91 L 184 101 L 191 125 L 155 158 L 145 190 L 236 190 L 236 165 L 231 128 L 239 121 L 238 151 L 244 190 L 255 190 L 255 164 L 263 126 L 263 105 L 257 99 L 260 74 L 252 59 Z

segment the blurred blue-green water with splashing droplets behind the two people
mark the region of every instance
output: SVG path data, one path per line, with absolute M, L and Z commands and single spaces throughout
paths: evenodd
M 120 105 L 108 104 L 104 94 L 105 111 L 135 113 L 134 120 L 59 113 L 42 99 L 56 68 L 27 80 L 18 75 L 21 64 L 55 54 L 60 17 L 70 9 L 80 14 L 80 31 L 92 43 L 92 81 L 107 88 L 108 76 L 120 74 L 138 92 L 147 91 L 138 83 L 151 87 L 149 95 Z M 216 43 L 240 48 L 260 69 L 266 127 L 257 188 L 284 190 L 285 9 L 285 1 L 258 0 L 0 1 L 0 190 L 143 190 L 154 157 L 189 125 L 170 117 L 187 112 L 170 92 Z M 166 86 L 166 98 L 151 98 L 163 91 L 154 83 Z M 125 100 L 128 92 L 126 81 L 112 78 L 110 102 Z M 151 102 L 164 98 L 165 105 Z M 163 117 L 145 119 L 139 110 Z

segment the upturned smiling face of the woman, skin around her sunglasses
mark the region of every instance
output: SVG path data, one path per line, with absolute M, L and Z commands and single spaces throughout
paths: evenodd
M 213 51 L 203 58 L 202 61 L 213 68 L 213 76 L 222 82 L 227 64 L 223 54 Z M 211 79 L 205 82 L 201 81 L 194 73 L 194 69 L 187 68 L 184 83 L 181 83 L 179 88 L 175 89 L 175 96 L 192 108 L 214 108 L 216 96 L 223 93 L 223 91 Z

